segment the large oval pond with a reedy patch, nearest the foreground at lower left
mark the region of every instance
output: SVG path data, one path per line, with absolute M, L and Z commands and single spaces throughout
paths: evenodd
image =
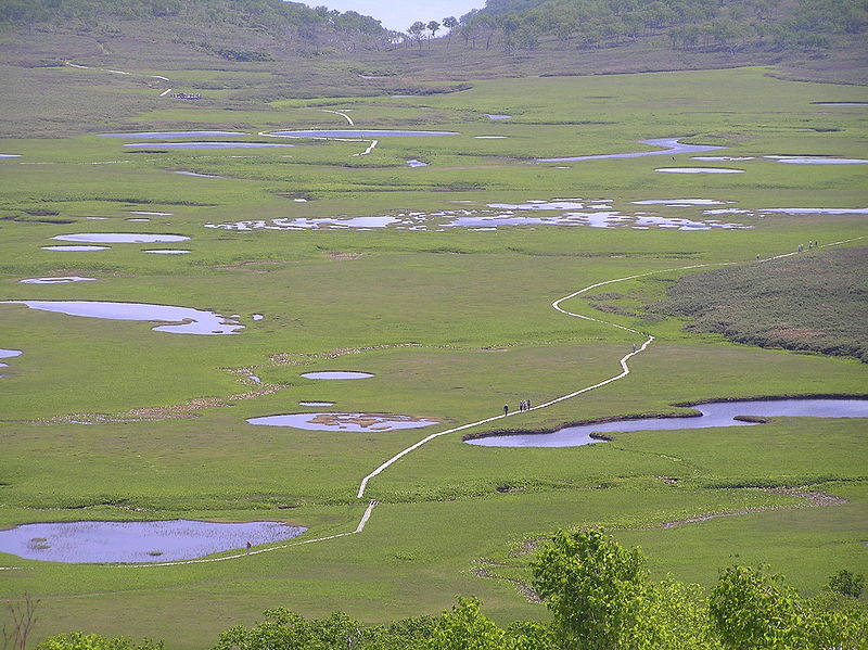
M 76 521 L 0 531 L 0 551 L 51 562 L 167 562 L 292 539 L 307 528 L 260 521 Z

